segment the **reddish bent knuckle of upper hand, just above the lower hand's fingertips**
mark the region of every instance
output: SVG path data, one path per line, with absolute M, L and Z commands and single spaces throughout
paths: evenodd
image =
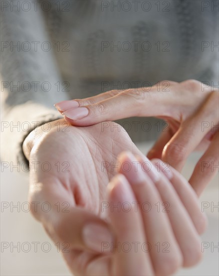
M 186 158 L 186 153 L 185 145 L 178 143 L 171 143 L 164 148 L 164 158 L 168 162 L 180 162 Z

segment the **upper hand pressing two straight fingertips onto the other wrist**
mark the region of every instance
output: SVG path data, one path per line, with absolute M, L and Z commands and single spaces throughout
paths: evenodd
M 198 195 L 217 171 L 219 95 L 201 82 L 162 81 L 151 88 L 112 90 L 55 106 L 64 112 L 68 122 L 80 126 L 131 116 L 156 116 L 166 120 L 168 129 L 165 128 L 147 157 L 161 158 L 181 171 L 192 151 L 205 151 L 189 179 Z

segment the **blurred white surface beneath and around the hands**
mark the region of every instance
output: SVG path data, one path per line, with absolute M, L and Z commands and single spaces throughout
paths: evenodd
M 138 145 L 139 149 L 145 153 L 150 148 L 151 144 Z M 199 154 L 193 154 L 185 168 L 183 175 L 188 179 L 192 172 L 195 161 Z M 18 202 L 20 204 L 27 202 L 28 195 L 28 178 L 24 174 L 11 173 L 10 170 L 5 170 L 2 173 L 1 184 L 1 201 L 13 202 L 14 205 Z M 213 202 L 218 204 L 218 174 L 211 181 L 205 192 L 201 196 L 202 202 Z M 208 217 L 208 229 L 203 234 L 202 240 L 204 242 L 218 243 L 218 209 L 214 208 L 214 212 L 210 208 L 206 209 L 205 213 Z M 57 252 L 57 247 L 53 245 L 48 235 L 45 233 L 40 223 L 34 220 L 30 212 L 20 211 L 14 209 L 13 212 L 8 208 L 1 212 L 1 246 L 3 242 L 20 242 L 21 251 L 18 252 L 16 248 L 1 248 L 1 275 L 70 275 L 70 272 L 65 265 L 60 253 Z M 22 243 L 29 242 L 31 248 L 27 250 L 27 244 L 22 250 Z M 33 242 L 40 242 L 38 250 L 35 252 Z M 44 252 L 41 249 L 43 242 L 51 244 L 51 250 Z M 13 250 L 12 250 L 13 249 Z M 44 250 L 47 250 L 46 244 Z M 13 251 L 13 252 L 11 252 Z M 211 252 L 210 248 L 205 249 L 203 260 L 195 267 L 189 269 L 181 269 L 176 275 L 218 275 L 218 249 L 214 248 Z

